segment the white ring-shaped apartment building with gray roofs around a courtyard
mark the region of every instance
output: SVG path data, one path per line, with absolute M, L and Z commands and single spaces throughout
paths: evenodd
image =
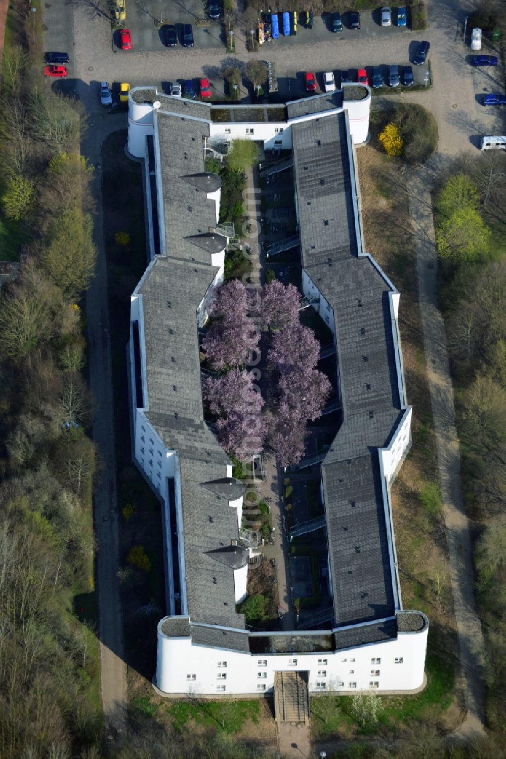
M 281 106 L 213 106 L 130 93 L 128 148 L 144 159 L 150 262 L 130 307 L 134 458 L 165 505 L 167 616 L 154 683 L 166 694 L 269 694 L 280 672 L 310 691 L 410 692 L 428 620 L 404 610 L 389 487 L 410 447 L 399 293 L 363 250 L 355 145 L 370 90 Z M 250 115 L 250 121 L 246 121 Z M 322 455 L 332 608 L 323 629 L 247 629 L 242 483 L 203 415 L 199 328 L 223 278 L 220 178 L 209 149 L 236 137 L 291 150 L 303 292 L 332 329 L 341 424 Z

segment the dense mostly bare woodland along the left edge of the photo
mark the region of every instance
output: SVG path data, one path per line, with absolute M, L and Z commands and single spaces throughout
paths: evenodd
M 93 593 L 92 399 L 81 299 L 96 260 L 86 120 L 42 75 L 11 6 L 2 60 L 0 755 L 86 756 L 102 733 Z M 93 755 L 93 754 L 91 754 Z M 97 754 L 95 754 L 97 755 Z

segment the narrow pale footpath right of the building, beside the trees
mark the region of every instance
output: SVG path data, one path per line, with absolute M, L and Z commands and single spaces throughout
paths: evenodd
M 467 718 L 457 731 L 462 737 L 484 732 L 485 689 L 482 628 L 474 603 L 473 556 L 469 524 L 460 488 L 460 447 L 455 427 L 454 398 L 446 350 L 445 324 L 438 310 L 432 219 L 432 179 L 418 170 L 408 178 L 410 213 L 416 243 L 423 342 L 432 403 L 443 517 L 450 557 L 451 590 L 460 649 L 460 667 Z

